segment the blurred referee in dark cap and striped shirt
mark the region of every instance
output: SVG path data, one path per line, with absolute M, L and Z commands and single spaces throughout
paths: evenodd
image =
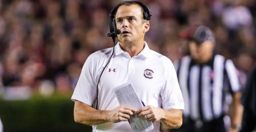
M 198 26 L 188 40 L 190 55 L 175 63 L 185 102 L 180 132 L 225 132 L 227 95 L 232 95 L 232 132 L 241 124 L 241 86 L 236 68 L 230 59 L 214 54 L 214 47 L 211 29 Z

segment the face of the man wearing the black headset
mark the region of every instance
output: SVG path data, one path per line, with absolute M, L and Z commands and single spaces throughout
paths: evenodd
M 121 30 L 117 35 L 122 43 L 144 40 L 149 23 L 142 19 L 142 8 L 139 5 L 122 5 L 116 12 L 116 28 Z

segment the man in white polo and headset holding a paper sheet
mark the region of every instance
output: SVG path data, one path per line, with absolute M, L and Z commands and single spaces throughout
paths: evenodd
M 128 120 L 133 115 L 154 122 L 151 132 L 159 132 L 160 122 L 170 128 L 180 127 L 184 102 L 174 66 L 144 41 L 151 12 L 137 1 L 121 2 L 112 11 L 113 27 L 121 31 L 116 33 L 119 42 L 107 68 L 112 48 L 97 51 L 85 61 L 71 97 L 75 121 L 92 125 L 93 132 L 132 132 Z M 119 105 L 113 88 L 126 82 L 133 83 L 146 106 L 135 109 Z

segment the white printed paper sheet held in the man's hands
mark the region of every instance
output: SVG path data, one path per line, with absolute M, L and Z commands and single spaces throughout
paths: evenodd
M 131 106 L 136 109 L 142 107 L 142 102 L 137 97 L 137 94 L 131 82 L 127 82 L 114 88 L 114 92 L 120 105 Z M 132 116 L 129 120 L 129 123 L 133 129 L 133 132 L 148 132 L 154 129 L 154 125 L 152 122 L 149 122 L 143 117 L 138 118 L 137 115 Z

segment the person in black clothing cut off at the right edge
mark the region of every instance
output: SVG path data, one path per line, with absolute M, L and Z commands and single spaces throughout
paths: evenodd
M 256 130 L 256 66 L 248 75 L 242 95 L 242 104 L 244 111 L 241 132 L 252 132 Z

